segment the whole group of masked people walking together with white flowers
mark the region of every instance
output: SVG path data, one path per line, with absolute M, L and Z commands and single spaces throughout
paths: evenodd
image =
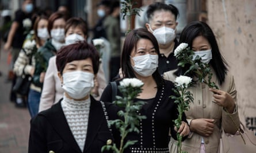
M 146 101 L 137 113 L 147 118 L 140 120 L 138 133 L 127 135 L 127 140 L 137 142 L 125 152 L 177 152 L 177 133 L 183 136 L 183 151 L 217 152 L 221 128 L 234 134 L 238 129 L 231 125 L 239 125 L 240 121 L 234 78 L 228 73 L 227 62 L 210 26 L 199 21 L 188 23 L 178 41 L 177 7 L 155 2 L 147 6 L 144 28 L 129 32 L 121 49 L 120 31 L 116 30 L 119 2 L 108 5 L 105 1 L 98 5 L 99 8 L 104 5 L 104 9 L 98 11 L 101 20 L 97 25 L 104 33 L 95 37 L 105 37 L 110 43 L 113 53 L 110 65 L 114 71 L 110 72 L 109 80 L 99 50 L 87 42 L 87 22 L 69 18 L 63 11 L 37 14 L 32 37 L 24 38 L 24 45 L 16 50 L 14 72 L 17 76 L 22 73 L 32 76 L 29 93 L 21 100 L 28 99 L 32 117 L 29 152 L 101 152 L 105 144 L 120 145 L 118 127 L 108 124 L 109 120 L 122 120 L 117 112 L 123 108 L 112 102 L 113 96 L 123 95 L 109 83 L 119 68 L 120 76 L 112 83 L 118 86 L 123 79 L 141 80 L 142 92 L 134 101 Z M 27 6 L 32 3 L 24 1 L 26 15 L 32 12 L 33 9 L 28 11 L 31 6 Z M 18 23 L 14 21 L 12 28 L 16 26 Z M 95 27 L 94 32 L 97 30 Z M 14 33 L 11 30 L 6 49 Z M 204 83 L 189 89 L 196 95 L 193 96 L 196 102 L 190 104 L 182 115 L 181 127 L 175 129 L 178 105 L 170 96 L 175 95 L 175 77 L 184 75 L 189 68 L 178 66 L 174 56 L 175 48 L 182 42 L 195 54 L 207 51 L 212 80 L 220 89 L 208 88 Z M 35 46 L 35 50 L 28 48 L 28 44 Z M 189 75 L 195 80 L 198 77 Z

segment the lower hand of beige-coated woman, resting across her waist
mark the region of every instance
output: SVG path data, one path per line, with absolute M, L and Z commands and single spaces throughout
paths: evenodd
M 202 136 L 210 136 L 214 127 L 213 119 L 193 119 L 190 122 L 190 130 Z

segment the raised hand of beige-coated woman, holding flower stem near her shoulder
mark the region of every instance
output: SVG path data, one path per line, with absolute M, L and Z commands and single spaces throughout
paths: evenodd
M 213 100 L 216 102 L 216 104 L 226 108 L 229 113 L 234 112 L 235 100 L 230 96 L 229 93 L 221 91 L 219 89 L 210 88 L 209 90 L 214 93 Z

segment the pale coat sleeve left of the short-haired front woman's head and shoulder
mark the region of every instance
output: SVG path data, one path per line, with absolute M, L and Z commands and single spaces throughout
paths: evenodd
M 50 58 L 49 66 L 46 70 L 45 77 L 44 77 L 44 85 L 43 90 L 41 93 L 40 103 L 39 103 L 39 112 L 48 109 L 54 104 L 55 100 L 55 57 Z

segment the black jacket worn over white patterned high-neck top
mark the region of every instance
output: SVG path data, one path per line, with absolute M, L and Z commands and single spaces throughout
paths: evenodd
M 29 153 L 49 151 L 54 151 L 55 153 L 82 153 L 68 126 L 60 101 L 50 109 L 40 112 L 30 121 Z M 110 119 L 117 117 L 118 109 L 115 105 L 106 104 L 105 107 Z M 101 153 L 101 147 L 104 146 L 108 140 L 114 142 L 114 138 L 118 135 L 115 132 L 112 134 L 112 132 L 110 132 L 108 128 L 102 104 L 100 101 L 96 101 L 91 97 L 89 121 L 83 153 Z

